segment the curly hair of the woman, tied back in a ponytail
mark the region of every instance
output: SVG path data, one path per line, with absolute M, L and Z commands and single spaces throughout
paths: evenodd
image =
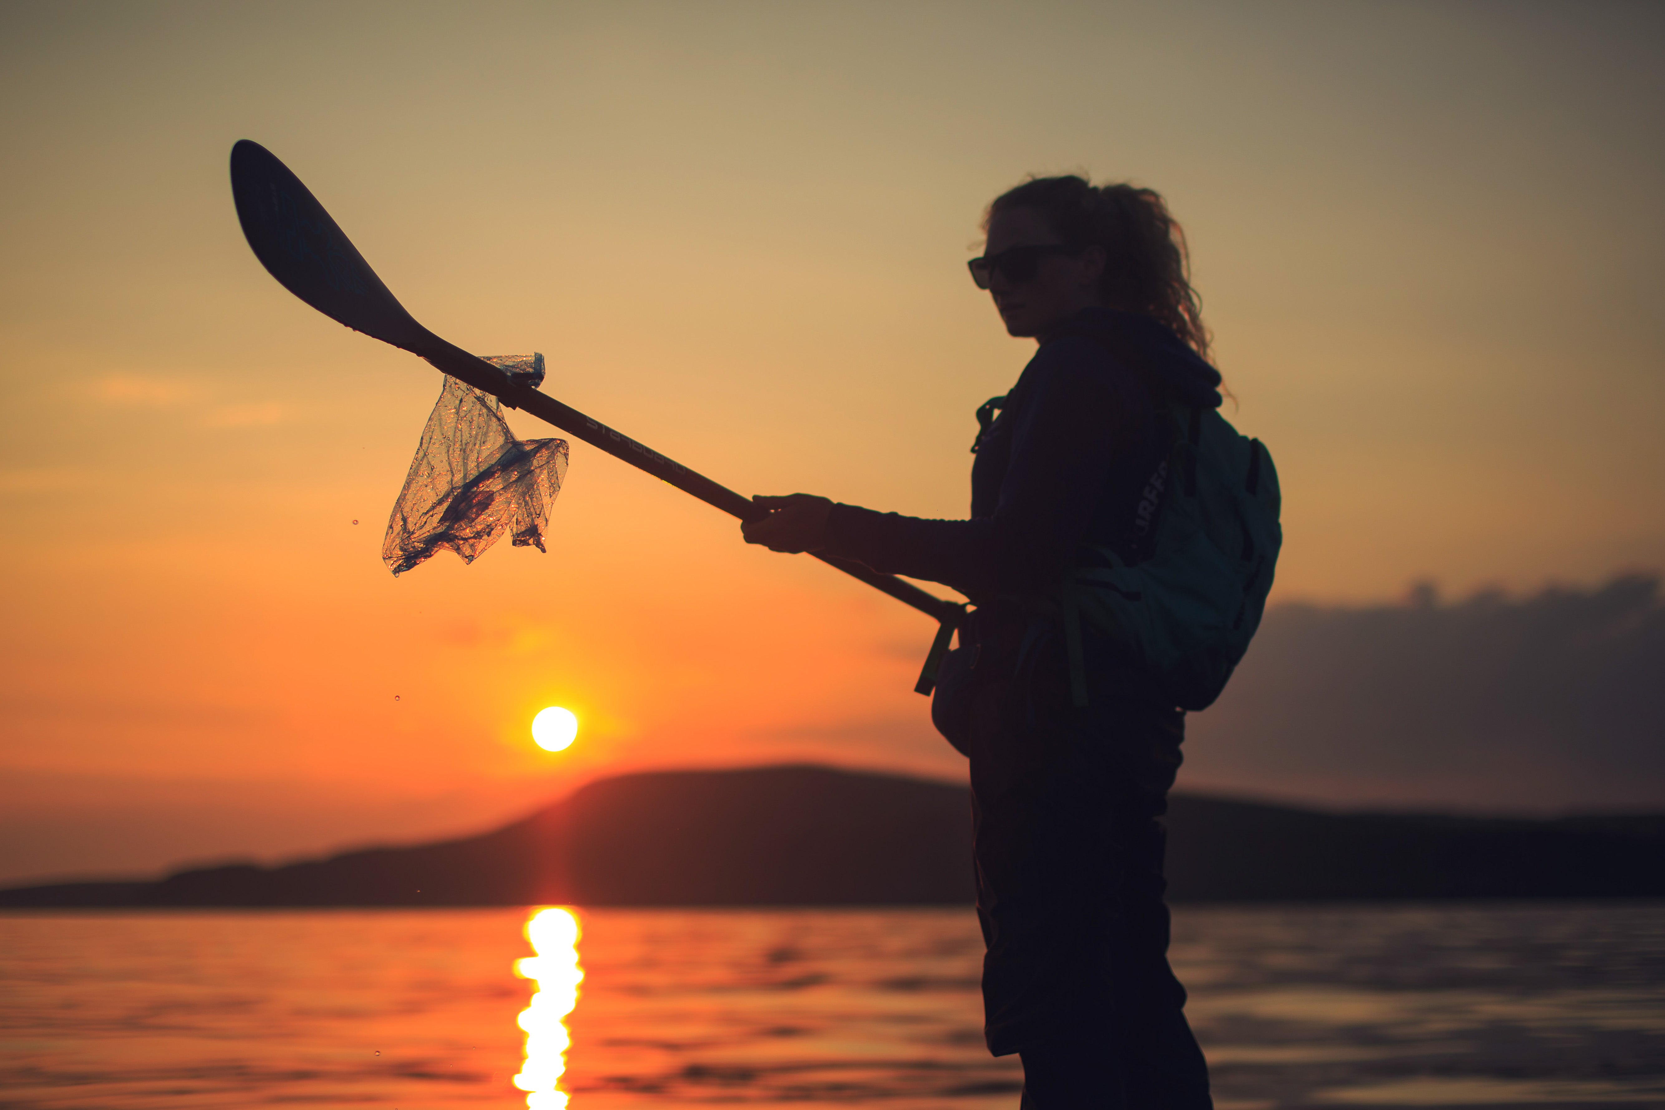
M 1202 325 L 1202 298 L 1190 288 L 1185 233 L 1161 193 L 1126 181 L 1092 185 L 1076 175 L 1031 176 L 994 198 L 982 230 L 996 213 L 1012 208 L 1041 213 L 1071 246 L 1102 246 L 1104 303 L 1154 318 L 1197 354 L 1209 356 L 1210 336 Z

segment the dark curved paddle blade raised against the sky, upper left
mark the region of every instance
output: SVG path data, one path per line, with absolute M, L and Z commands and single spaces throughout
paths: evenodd
M 231 198 L 260 265 L 325 316 L 423 353 L 431 341 L 318 198 L 276 155 L 250 140 L 231 148 Z

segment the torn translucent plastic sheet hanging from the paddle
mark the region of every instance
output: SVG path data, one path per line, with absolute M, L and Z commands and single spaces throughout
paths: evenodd
M 526 384 L 543 383 L 543 354 L 486 361 Z M 446 376 L 388 519 L 381 559 L 395 574 L 440 551 L 473 562 L 504 533 L 516 548 L 544 551 L 563 478 L 564 439 L 516 439 L 495 396 Z

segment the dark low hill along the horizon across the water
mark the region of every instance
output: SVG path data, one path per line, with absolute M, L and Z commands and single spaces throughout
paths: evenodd
M 1175 795 L 1175 900 L 1665 897 L 1665 815 L 1322 814 Z M 460 840 L 158 882 L 0 890 L 0 907 L 969 904 L 964 787 L 829 767 L 603 779 Z

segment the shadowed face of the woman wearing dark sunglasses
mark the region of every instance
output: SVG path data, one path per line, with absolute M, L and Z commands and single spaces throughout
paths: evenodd
M 999 258 L 1014 246 L 1061 245 L 1064 240 L 1047 226 L 1034 208 L 1007 208 L 989 220 L 984 258 Z M 1104 305 L 1099 278 L 1104 275 L 1104 248 L 1089 246 L 1079 255 L 1044 255 L 1034 278 L 1012 281 L 999 266 L 989 275 L 989 296 L 1014 336 L 1044 339 L 1047 331 L 1082 308 Z

